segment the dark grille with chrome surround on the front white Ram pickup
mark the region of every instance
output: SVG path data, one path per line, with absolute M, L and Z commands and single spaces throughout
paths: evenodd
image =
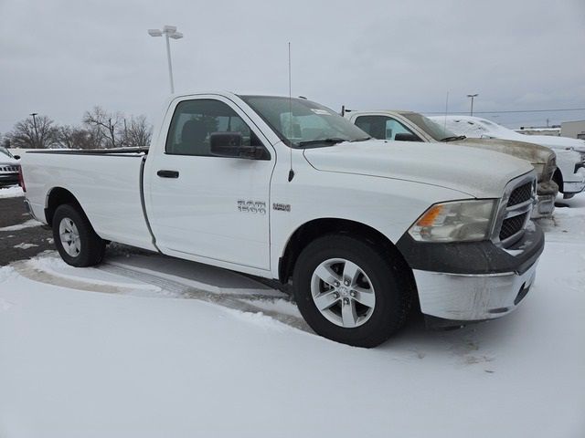
M 536 192 L 537 172 L 534 171 L 506 185 L 492 233 L 492 240 L 496 245 L 514 245 L 524 235 Z

